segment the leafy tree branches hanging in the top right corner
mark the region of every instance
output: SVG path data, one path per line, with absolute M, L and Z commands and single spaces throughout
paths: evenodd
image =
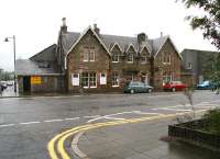
M 177 0 L 178 1 L 178 0 Z M 182 0 L 186 8 L 199 8 L 202 15 L 190 15 L 188 20 L 194 30 L 204 31 L 204 37 L 220 49 L 220 0 Z

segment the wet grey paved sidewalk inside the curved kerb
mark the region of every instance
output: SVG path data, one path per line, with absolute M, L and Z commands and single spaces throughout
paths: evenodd
M 167 125 L 154 121 L 85 132 L 78 148 L 89 159 L 219 159 L 220 155 L 180 143 L 167 143 Z

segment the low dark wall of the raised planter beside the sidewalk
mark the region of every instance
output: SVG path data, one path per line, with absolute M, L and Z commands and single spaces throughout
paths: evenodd
M 199 130 L 208 125 L 208 120 L 197 120 L 168 126 L 168 135 L 196 145 L 220 150 L 220 136 Z

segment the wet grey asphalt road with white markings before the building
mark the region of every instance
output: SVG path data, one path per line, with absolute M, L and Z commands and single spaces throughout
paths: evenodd
M 197 111 L 212 109 L 220 99 L 196 91 L 194 104 Z M 72 127 L 190 110 L 180 92 L 0 99 L 0 158 L 48 159 L 48 141 Z

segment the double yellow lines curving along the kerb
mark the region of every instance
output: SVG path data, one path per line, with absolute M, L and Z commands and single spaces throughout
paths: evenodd
M 205 112 L 207 110 L 197 111 L 197 113 Z M 70 159 L 69 155 L 66 152 L 64 148 L 65 140 L 70 137 L 72 135 L 75 135 L 79 132 L 85 132 L 98 127 L 106 127 L 106 126 L 114 126 L 114 125 L 122 125 L 122 124 L 129 124 L 129 123 L 138 123 L 138 122 L 144 122 L 144 121 L 154 121 L 160 118 L 170 118 L 178 115 L 184 115 L 187 113 L 176 113 L 176 114 L 167 114 L 167 115 L 157 115 L 157 116 L 151 116 L 151 117 L 140 117 L 140 118 L 132 118 L 132 120 L 123 120 L 123 121 L 117 121 L 117 122 L 106 122 L 106 123 L 96 123 L 96 124 L 86 124 L 82 126 L 77 126 L 72 129 L 65 130 L 64 133 L 61 133 L 56 135 L 54 138 L 52 138 L 47 145 L 48 154 L 52 159 L 59 159 L 56 151 L 55 151 L 55 144 L 57 143 L 57 150 L 63 159 Z

